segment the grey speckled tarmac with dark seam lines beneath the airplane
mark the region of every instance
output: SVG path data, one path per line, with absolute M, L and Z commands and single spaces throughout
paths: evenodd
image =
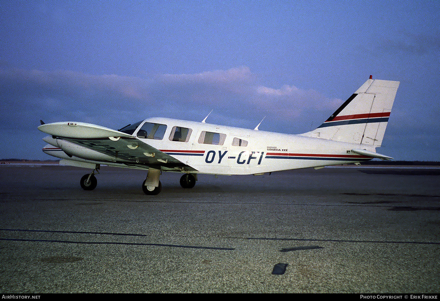
M 157 196 L 145 171 L 103 166 L 83 191 L 88 172 L 0 167 L 0 292 L 440 291 L 439 169 L 199 175 L 192 189 L 163 173 Z

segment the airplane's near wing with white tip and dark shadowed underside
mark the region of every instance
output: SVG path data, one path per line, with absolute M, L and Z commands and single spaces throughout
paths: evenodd
M 114 162 L 128 166 L 197 171 L 136 137 L 111 128 L 82 122 L 55 122 L 40 125 L 38 129 L 58 139 L 114 157 Z

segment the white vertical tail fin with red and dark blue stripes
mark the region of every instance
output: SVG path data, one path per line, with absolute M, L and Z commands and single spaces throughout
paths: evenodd
M 381 146 L 399 84 L 370 76 L 322 125 L 301 136 Z

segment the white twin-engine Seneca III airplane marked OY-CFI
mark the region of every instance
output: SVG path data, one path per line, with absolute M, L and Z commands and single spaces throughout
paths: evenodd
M 300 135 L 264 132 L 169 118 L 147 118 L 119 130 L 82 122 L 55 122 L 38 129 L 51 136 L 43 148 L 60 165 L 93 169 L 81 178 L 93 190 L 100 165 L 148 169 L 142 190 L 161 191 L 162 171 L 183 173 L 192 188 L 198 174 L 262 175 L 281 170 L 358 163 L 380 147 L 399 81 L 370 79 L 322 125 Z

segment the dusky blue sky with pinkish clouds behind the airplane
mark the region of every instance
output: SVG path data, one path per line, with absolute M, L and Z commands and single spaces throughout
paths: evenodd
M 379 153 L 440 161 L 438 1 L 2 1 L 0 158 L 45 122 L 147 117 L 298 134 L 400 81 Z

